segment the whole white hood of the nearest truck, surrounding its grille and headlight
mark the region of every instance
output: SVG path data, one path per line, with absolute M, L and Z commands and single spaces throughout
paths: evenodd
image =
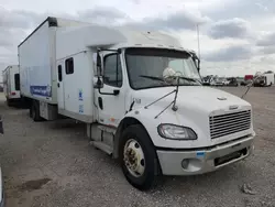
M 140 109 L 145 113 L 146 118 L 144 124 L 152 129 L 152 137 L 157 137 L 155 129 L 160 123 L 185 126 L 191 128 L 198 135 L 198 140 L 196 141 L 185 141 L 180 143 L 168 140 L 163 141 L 163 139 L 154 139 L 155 145 L 170 148 L 210 146 L 248 135 L 253 131 L 252 127 L 245 131 L 220 137 L 219 139 L 211 139 L 210 117 L 251 110 L 251 105 L 237 96 L 210 87 L 179 87 L 176 101 L 178 110 L 176 111 L 173 111 L 172 107 L 168 107 L 174 100 L 175 94 L 148 106 L 147 109 L 144 108 L 144 106 L 152 103 L 174 89 L 174 87 L 152 88 L 138 90 L 131 95 L 135 100 L 133 109 Z M 167 110 L 162 112 L 166 107 L 168 107 Z

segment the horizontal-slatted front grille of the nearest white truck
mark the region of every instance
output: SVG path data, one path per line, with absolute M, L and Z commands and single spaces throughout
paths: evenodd
M 249 130 L 251 110 L 209 117 L 211 139 Z

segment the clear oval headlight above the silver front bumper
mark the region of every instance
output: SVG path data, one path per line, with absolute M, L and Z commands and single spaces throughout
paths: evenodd
M 182 126 L 174 126 L 174 124 L 160 124 L 157 127 L 157 131 L 161 137 L 170 140 L 197 140 L 197 134 L 193 129 L 182 127 Z

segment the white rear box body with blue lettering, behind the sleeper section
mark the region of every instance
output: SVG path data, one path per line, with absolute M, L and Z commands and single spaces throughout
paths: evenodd
M 21 96 L 29 105 L 36 100 L 47 120 L 57 116 L 56 31 L 87 24 L 50 17 L 18 46 Z

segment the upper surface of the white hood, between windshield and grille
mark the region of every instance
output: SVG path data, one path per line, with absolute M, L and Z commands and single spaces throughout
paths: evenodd
M 136 107 L 146 106 L 166 94 L 173 91 L 174 87 L 153 88 L 135 91 L 133 98 L 139 100 Z M 160 100 L 153 106 L 167 107 L 174 100 L 175 94 Z M 152 107 L 153 107 L 152 106 Z M 178 90 L 177 103 L 178 108 L 188 110 L 196 110 L 202 113 L 210 115 L 213 111 L 229 110 L 229 107 L 251 107 L 249 102 L 240 97 L 233 96 L 229 92 L 204 86 L 182 86 Z

